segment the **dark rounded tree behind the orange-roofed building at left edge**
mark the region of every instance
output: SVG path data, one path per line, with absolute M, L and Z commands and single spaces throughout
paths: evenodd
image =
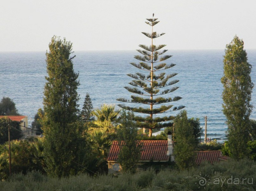
M 15 103 L 8 97 L 3 97 L 0 102 L 0 116 L 19 116 Z

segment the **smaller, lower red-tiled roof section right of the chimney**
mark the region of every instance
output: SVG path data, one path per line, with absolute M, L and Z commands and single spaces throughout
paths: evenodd
M 203 161 L 208 161 L 211 164 L 219 162 L 222 156 L 221 151 L 196 151 L 195 164 L 201 164 Z

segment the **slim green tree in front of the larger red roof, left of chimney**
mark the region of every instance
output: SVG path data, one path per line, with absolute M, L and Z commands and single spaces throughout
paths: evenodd
M 140 145 L 136 141 L 138 129 L 133 122 L 134 114 L 121 112 L 121 126 L 117 131 L 119 140 L 124 141 L 121 151 L 118 155 L 118 163 L 121 164 L 122 171 L 125 173 L 135 173 L 137 162 L 140 159 Z M 121 144 L 121 141 L 120 141 Z

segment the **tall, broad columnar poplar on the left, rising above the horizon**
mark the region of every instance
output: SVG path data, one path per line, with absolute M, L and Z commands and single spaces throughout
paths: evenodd
M 73 70 L 72 43 L 54 36 L 46 52 L 47 73 L 43 98 L 46 172 L 61 177 L 81 170 L 84 156 L 82 122 L 77 101 L 78 74 Z M 80 165 L 78 165 L 80 164 Z

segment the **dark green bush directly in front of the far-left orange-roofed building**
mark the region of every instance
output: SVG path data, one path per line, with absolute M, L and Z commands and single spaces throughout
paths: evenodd
M 22 132 L 18 128 L 17 122 L 10 121 L 10 140 L 19 139 L 22 137 Z M 0 118 L 0 144 L 8 141 L 8 118 Z

